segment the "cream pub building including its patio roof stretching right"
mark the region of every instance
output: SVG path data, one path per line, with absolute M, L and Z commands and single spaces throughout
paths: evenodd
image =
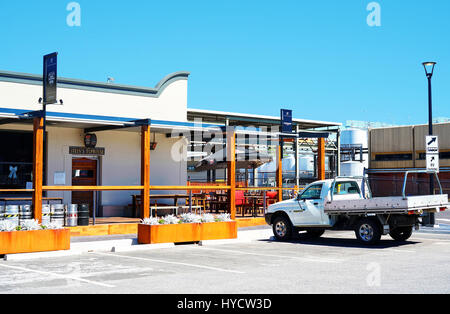
M 210 134 L 223 133 L 227 127 L 241 127 L 236 131 L 237 145 L 240 145 L 240 136 L 244 139 L 270 137 L 275 146 L 279 145 L 279 130 L 272 128 L 280 125 L 279 117 L 188 109 L 188 78 L 188 72 L 173 73 L 154 88 L 58 78 L 60 102 L 46 108 L 43 185 L 140 186 L 143 151 L 140 123 L 149 123 L 151 129 L 152 186 L 185 187 L 189 148 L 200 144 L 204 150 L 210 144 Z M 0 139 L 3 143 L 0 196 L 31 197 L 35 154 L 30 117 L 43 109 L 41 97 L 42 76 L 0 71 Z M 252 127 L 249 131 L 250 126 L 256 129 Z M 339 126 L 333 122 L 293 119 L 293 131 L 297 132 L 338 133 Z M 304 137 L 317 136 L 317 132 L 305 134 Z M 218 145 L 220 147 L 222 142 Z M 89 204 L 91 215 L 97 217 L 131 217 L 136 214 L 130 206 L 133 195 L 139 193 L 129 189 L 50 190 L 44 192 L 44 197 L 60 199 L 64 204 Z

